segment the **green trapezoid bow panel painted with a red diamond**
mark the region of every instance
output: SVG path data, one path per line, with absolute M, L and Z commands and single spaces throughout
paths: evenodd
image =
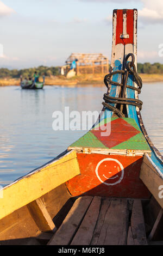
M 139 126 L 132 118 L 103 119 L 82 138 L 70 145 L 70 148 L 73 147 L 150 150 Z

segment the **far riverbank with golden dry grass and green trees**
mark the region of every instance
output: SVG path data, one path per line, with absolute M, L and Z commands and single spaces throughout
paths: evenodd
M 7 68 L 0 69 L 0 86 L 19 86 L 20 85 L 20 76 L 22 77 L 33 77 L 34 72 L 37 71 L 41 76 L 45 75 L 45 84 L 46 85 L 59 85 L 59 86 L 68 86 L 68 85 L 80 85 L 80 84 L 94 84 L 94 85 L 103 85 L 104 74 L 85 74 L 78 75 L 72 78 L 67 79 L 65 76 L 60 75 L 59 66 L 39 66 L 37 68 L 29 69 L 12 69 Z M 163 82 L 163 64 L 160 63 L 138 63 L 137 71 L 142 78 L 144 83 L 146 82 Z

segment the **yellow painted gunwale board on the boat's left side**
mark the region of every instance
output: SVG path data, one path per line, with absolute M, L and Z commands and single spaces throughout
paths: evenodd
M 72 150 L 46 166 L 4 187 L 0 198 L 0 220 L 80 174 L 76 151 Z

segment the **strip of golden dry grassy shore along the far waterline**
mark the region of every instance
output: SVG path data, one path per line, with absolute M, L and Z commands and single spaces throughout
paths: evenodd
M 163 82 L 163 74 L 139 74 L 143 83 Z M 45 85 L 48 86 L 83 86 L 92 84 L 93 86 L 103 86 L 104 75 L 88 74 L 67 79 L 64 76 L 45 77 Z M 42 79 L 40 78 L 40 81 Z M 20 86 L 19 78 L 0 78 L 0 86 Z

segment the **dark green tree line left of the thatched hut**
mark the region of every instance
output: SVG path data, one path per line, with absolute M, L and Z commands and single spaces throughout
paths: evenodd
M 29 68 L 29 69 L 12 69 L 9 70 L 7 68 L 0 69 L 0 78 L 18 78 L 21 75 L 23 77 L 33 77 L 34 72 L 38 72 L 40 76 L 57 76 L 60 75 L 60 68 L 57 66 L 38 66 L 37 68 Z

